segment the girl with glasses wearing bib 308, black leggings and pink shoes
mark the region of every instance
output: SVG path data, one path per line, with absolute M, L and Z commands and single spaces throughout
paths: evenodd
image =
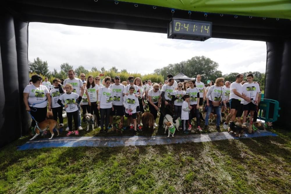
M 66 108 L 67 112 L 67 118 L 68 118 L 68 126 L 69 126 L 69 132 L 67 136 L 71 134 L 79 135 L 78 132 L 78 104 L 81 102 L 82 97 L 79 96 L 78 94 L 72 92 L 73 86 L 68 83 L 65 85 L 65 90 L 66 93 L 61 95 L 61 97 L 58 99 L 58 104 L 61 105 L 62 107 Z M 62 104 L 64 102 L 64 104 Z M 74 119 L 74 127 L 75 130 L 72 131 L 72 118 Z

